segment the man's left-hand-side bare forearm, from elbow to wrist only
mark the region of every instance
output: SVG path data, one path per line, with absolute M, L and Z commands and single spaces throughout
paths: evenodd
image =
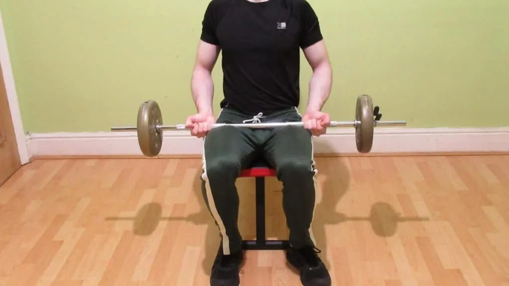
M 191 93 L 198 113 L 213 115 L 214 81 L 210 71 L 196 67 L 192 73 Z

